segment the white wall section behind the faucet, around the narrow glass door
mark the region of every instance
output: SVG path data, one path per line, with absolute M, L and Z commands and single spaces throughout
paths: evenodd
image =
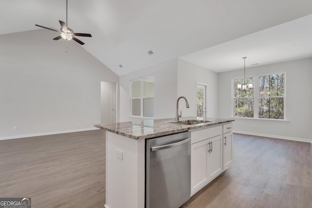
M 181 59 L 177 60 L 177 68 L 177 95 L 185 96 L 190 104 L 187 109 L 184 100 L 180 99 L 182 117 L 196 116 L 196 82 L 208 85 L 206 117 L 217 117 L 217 73 Z

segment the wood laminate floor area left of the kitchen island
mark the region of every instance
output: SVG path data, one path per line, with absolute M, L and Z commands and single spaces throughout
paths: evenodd
M 31 197 L 32 208 L 103 208 L 105 132 L 0 141 L 0 197 Z

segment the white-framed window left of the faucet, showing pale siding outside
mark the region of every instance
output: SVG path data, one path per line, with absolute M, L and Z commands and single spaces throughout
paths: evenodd
M 131 116 L 154 117 L 154 76 L 141 77 L 131 83 Z

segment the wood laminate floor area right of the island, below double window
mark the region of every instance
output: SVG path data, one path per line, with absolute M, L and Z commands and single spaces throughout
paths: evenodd
M 228 170 L 181 208 L 312 208 L 311 143 L 235 134 Z

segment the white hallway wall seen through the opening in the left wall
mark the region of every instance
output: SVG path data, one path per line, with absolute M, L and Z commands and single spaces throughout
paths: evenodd
M 116 91 L 116 82 L 101 81 L 101 121 L 111 123 L 112 120 L 112 91 Z

